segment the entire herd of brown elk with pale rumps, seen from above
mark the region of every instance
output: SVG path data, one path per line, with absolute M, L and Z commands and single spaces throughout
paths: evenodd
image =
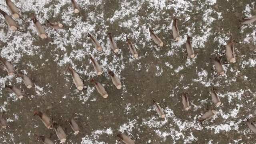
M 7 25 L 10 27 L 10 29 L 12 31 L 18 30 L 20 32 L 25 32 L 25 31 L 20 30 L 19 24 L 15 20 L 15 19 L 20 18 L 25 22 L 25 20 L 22 18 L 22 15 L 21 15 L 21 9 L 18 8 L 11 0 L 5 0 L 5 1 L 6 1 L 6 6 L 8 7 L 8 10 L 11 15 L 8 15 L 6 12 L 4 12 L 1 9 L 0 9 L 0 13 L 3 15 L 4 19 L 6 20 Z M 80 15 L 82 16 L 81 10 L 75 0 L 71 0 L 71 6 L 74 10 L 74 13 L 76 13 L 76 14 L 80 13 Z M 31 21 L 34 23 L 34 27 L 36 28 L 36 31 L 37 31 L 38 35 L 40 36 L 40 38 L 42 38 L 42 39 L 48 38 L 48 39 L 52 40 L 46 33 L 46 31 L 43 27 L 43 24 L 41 24 L 37 20 L 34 13 L 31 14 Z M 249 18 L 245 17 L 245 18 L 240 19 L 240 24 L 242 26 L 245 24 L 250 24 L 254 21 L 256 21 L 256 16 L 252 16 Z M 172 34 L 173 34 L 174 41 L 176 41 L 176 42 L 180 40 L 180 33 L 178 30 L 177 23 L 178 23 L 178 18 L 176 18 L 174 16 L 173 23 L 172 23 Z M 26 24 L 27 24 L 27 22 L 26 22 Z M 55 30 L 58 30 L 58 29 L 68 30 L 68 28 L 64 28 L 64 26 L 61 23 L 54 23 L 54 22 L 50 22 L 49 20 L 46 20 L 46 24 L 48 24 L 48 26 L 50 26 L 51 28 L 53 28 Z M 150 33 L 150 37 L 153 39 L 153 41 L 156 45 L 158 45 L 159 47 L 162 47 L 164 45 L 164 42 L 162 42 L 162 40 L 154 33 L 154 30 L 149 28 L 149 33 Z M 118 49 L 118 46 L 114 40 L 114 37 L 112 36 L 112 33 L 109 32 L 107 35 L 109 37 L 110 48 L 111 48 L 112 52 L 114 52 L 115 54 L 118 53 L 120 51 L 120 49 Z M 103 50 L 103 47 L 101 46 L 100 42 L 98 42 L 98 40 L 96 38 L 94 38 L 94 36 L 92 36 L 91 34 L 88 33 L 88 37 L 92 41 L 92 43 L 97 51 L 100 52 Z M 192 36 L 189 36 L 187 34 L 187 40 L 186 40 L 186 44 L 185 44 L 186 51 L 187 51 L 187 58 L 194 58 L 194 56 L 195 56 L 191 40 L 192 40 Z M 139 55 L 138 55 L 137 49 L 134 47 L 134 45 L 132 44 L 132 41 L 130 40 L 130 38 L 128 38 L 128 36 L 126 36 L 126 42 L 128 43 L 128 48 L 129 48 L 132 56 L 134 58 L 138 58 Z M 225 46 L 225 48 L 226 48 L 226 63 L 236 62 L 236 55 L 235 55 L 235 51 L 234 51 L 234 44 L 236 44 L 236 43 L 238 43 L 238 42 L 236 42 L 236 40 L 234 40 L 233 38 L 230 38 L 229 42 L 226 44 L 226 46 Z M 95 58 L 93 58 L 91 55 L 89 55 L 89 59 L 92 63 L 95 73 L 98 76 L 102 75 L 102 73 L 103 73 L 102 67 L 97 62 L 97 60 Z M 222 64 L 223 64 L 222 56 L 217 55 L 217 56 L 215 56 L 215 58 L 210 58 L 210 60 L 214 64 L 216 72 L 220 75 L 224 75 L 225 70 L 222 66 Z M 31 80 L 28 76 L 26 76 L 20 72 L 16 72 L 14 69 L 14 66 L 12 66 L 12 64 L 10 62 L 8 62 L 5 58 L 3 58 L 1 56 L 0 56 L 0 61 L 10 76 L 15 75 L 17 77 L 22 78 L 24 84 L 29 89 L 33 87 L 33 85 L 34 85 L 33 80 Z M 70 64 L 68 65 L 67 70 L 70 72 L 70 74 L 72 76 L 72 80 L 73 80 L 76 88 L 80 91 L 86 90 L 86 87 L 84 86 L 84 80 L 82 78 L 80 78 L 78 72 L 76 72 Z M 110 70 L 110 68 L 107 68 L 107 73 L 111 76 L 112 83 L 114 84 L 114 86 L 118 90 L 120 90 L 122 88 L 122 83 L 121 83 L 120 79 L 118 78 L 118 76 L 116 76 L 116 74 L 114 74 L 114 72 L 112 70 Z M 100 84 L 100 82 L 96 81 L 92 76 L 90 77 L 90 82 L 92 82 L 95 85 L 96 90 L 103 98 L 108 97 L 108 92 L 105 90 L 105 88 L 102 86 L 102 84 Z M 12 86 L 12 85 L 6 85 L 5 87 L 9 88 L 17 96 L 17 98 L 19 98 L 19 99 L 24 98 L 24 94 L 22 93 L 22 90 L 20 90 L 20 88 L 18 88 L 16 86 Z M 221 101 L 220 101 L 220 98 L 218 97 L 218 94 L 216 93 L 216 88 L 214 88 L 214 87 L 211 88 L 210 95 L 212 97 L 214 104 L 219 106 L 221 104 Z M 182 92 L 182 94 L 181 94 L 182 104 L 183 104 L 183 108 L 185 111 L 190 110 L 188 96 L 189 96 L 188 92 L 186 92 L 186 91 Z M 154 106 L 156 108 L 156 112 L 159 114 L 160 118 L 165 118 L 164 110 L 160 107 L 160 105 L 155 100 L 153 100 L 153 104 L 154 104 Z M 205 112 L 205 114 L 203 114 L 199 118 L 199 120 L 198 120 L 199 122 L 204 122 L 205 120 L 209 120 L 214 115 L 216 115 L 217 112 L 215 110 L 213 110 L 213 108 L 211 106 L 208 106 L 207 109 L 208 109 L 208 111 Z M 9 125 L 8 125 L 8 122 L 4 119 L 4 113 L 5 112 L 3 112 L 2 116 L 0 117 L 0 124 L 1 124 L 2 128 L 7 128 Z M 48 116 L 48 114 L 46 114 L 46 113 L 36 111 L 34 113 L 34 116 L 38 116 L 40 118 L 40 120 L 42 120 L 43 124 L 48 129 L 53 128 L 55 130 L 56 135 L 60 140 L 60 143 L 65 142 L 66 141 L 66 132 L 65 132 L 64 128 L 62 128 L 62 126 L 60 124 L 53 122 L 53 119 L 50 118 L 50 116 Z M 79 126 L 75 122 L 75 120 L 73 118 L 70 118 L 70 119 L 66 119 L 66 122 L 68 122 L 70 124 L 72 130 L 74 131 L 74 134 L 78 134 L 78 132 L 80 130 L 79 130 Z M 250 130 L 252 130 L 254 133 L 256 133 L 256 126 L 254 125 L 253 122 L 251 122 L 250 120 L 247 119 L 246 124 L 248 125 Z M 42 142 L 44 142 L 44 144 L 54 144 L 54 142 L 46 136 L 36 136 L 36 139 L 42 140 Z M 117 139 L 118 139 L 118 141 L 123 141 L 126 144 L 134 144 L 135 143 L 134 140 L 132 140 L 130 137 L 126 136 L 126 134 L 124 134 L 124 133 L 118 134 Z

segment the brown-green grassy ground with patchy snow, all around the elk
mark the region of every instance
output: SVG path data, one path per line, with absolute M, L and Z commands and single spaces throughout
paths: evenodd
M 246 143 L 254 137 L 252 132 L 242 124 L 247 118 L 255 118 L 256 113 L 252 109 L 256 96 L 254 84 L 256 79 L 252 72 L 256 67 L 256 25 L 254 23 L 242 26 L 239 30 L 237 29 L 239 24 L 234 24 L 238 22 L 237 20 L 226 25 L 230 20 L 227 14 L 235 17 L 234 8 L 224 5 L 228 5 L 228 0 L 220 3 L 216 0 L 206 0 L 206 2 L 196 0 L 79 0 L 78 5 L 82 9 L 82 17 L 74 14 L 70 0 L 12 1 L 22 8 L 26 21 L 30 20 L 29 14 L 34 12 L 41 23 L 44 23 L 45 19 L 50 19 L 53 22 L 61 22 L 69 27 L 69 30 L 58 30 L 57 33 L 52 28 L 44 26 L 48 35 L 54 40 L 50 42 L 39 38 L 32 22 L 29 21 L 29 24 L 25 25 L 22 20 L 18 20 L 20 29 L 27 30 L 27 32 L 14 33 L 1 16 L 1 56 L 10 61 L 16 70 L 29 76 L 36 77 L 41 73 L 49 73 L 50 78 L 58 77 L 54 74 L 60 74 L 58 78 L 63 79 L 61 82 L 49 80 L 47 83 L 40 82 L 44 78 L 39 79 L 33 89 L 34 93 L 28 94 L 27 101 L 18 100 L 13 93 L 4 88 L 4 85 L 14 84 L 24 88 L 21 78 L 8 76 L 6 71 L 0 71 L 2 86 L 0 110 L 7 112 L 8 122 L 21 126 L 28 118 L 31 119 L 32 124 L 38 121 L 31 127 L 33 129 L 21 127 L 26 130 L 19 132 L 27 132 L 28 136 L 22 135 L 27 138 L 17 138 L 21 135 L 15 132 L 17 127 L 11 126 L 9 130 L 2 130 L 1 143 L 27 144 L 28 140 L 33 140 L 35 134 L 47 135 L 51 132 L 42 133 L 45 130 L 38 130 L 43 125 L 39 119 L 32 117 L 32 113 L 26 114 L 27 117 L 22 115 L 23 111 L 33 112 L 38 109 L 44 111 L 49 105 L 54 105 L 55 109 L 58 109 L 60 105 L 65 108 L 62 112 L 63 107 L 60 107 L 57 110 L 59 113 L 54 114 L 54 118 L 72 115 L 73 112 L 76 114 L 78 124 L 83 125 L 84 131 L 82 130 L 78 136 L 72 136 L 72 132 L 68 132 L 67 141 L 70 144 L 78 142 L 81 144 L 112 144 L 117 142 L 115 136 L 123 132 L 132 139 L 136 139 L 136 143 L 141 144 L 193 143 L 194 139 L 204 140 L 203 132 L 211 132 L 213 135 L 212 139 L 211 136 L 207 137 L 208 144 L 218 142 L 215 138 L 218 134 L 225 132 L 233 135 L 230 137 L 232 141 L 228 140 L 229 143 Z M 0 4 L 0 8 L 8 12 L 3 0 Z M 241 2 L 240 10 L 236 12 L 241 12 L 241 17 L 255 15 L 255 4 L 255 2 L 248 4 Z M 172 38 L 173 15 L 179 18 L 178 28 L 181 38 L 178 42 L 174 42 Z M 162 39 L 163 48 L 154 44 L 148 27 L 153 28 L 155 34 Z M 110 31 L 120 49 L 117 55 L 113 54 L 110 48 L 107 36 Z M 98 39 L 103 52 L 95 49 L 87 33 Z M 239 36 L 234 35 L 238 33 Z M 186 34 L 193 38 L 192 46 L 195 50 L 193 59 L 186 58 L 184 46 Z M 137 59 L 134 59 L 128 52 L 126 36 L 137 48 L 139 55 Z M 209 58 L 215 57 L 216 54 L 224 55 L 222 45 L 226 45 L 231 36 L 238 41 L 235 45 L 237 60 L 234 64 L 225 64 L 226 74 L 218 76 Z M 104 72 L 102 76 L 96 76 L 92 63 L 88 60 L 89 54 L 102 66 Z M 36 58 L 38 62 L 32 58 Z M 87 91 L 78 92 L 75 89 L 71 75 L 65 71 L 68 64 L 71 64 L 74 70 L 87 81 Z M 114 85 L 106 72 L 108 67 L 120 78 L 122 90 L 114 91 Z M 42 69 L 49 71 L 42 71 Z M 56 72 L 51 72 L 51 70 Z M 145 77 L 141 76 L 141 73 Z M 160 90 L 149 89 L 154 88 L 154 85 L 158 83 L 164 85 L 149 79 L 148 75 L 151 73 L 154 73 L 152 74 L 154 80 L 170 79 L 171 82 L 168 83 L 170 86 L 166 88 L 155 86 Z M 133 74 L 138 75 L 133 76 Z M 96 80 L 105 88 L 107 87 L 106 90 L 112 99 L 102 100 L 103 98 L 98 95 L 94 85 L 89 84 L 89 76 L 96 77 Z M 60 85 L 64 83 L 65 89 L 70 90 L 65 93 L 66 91 L 58 87 L 57 83 Z M 216 116 L 200 124 L 197 121 L 200 114 L 206 112 L 206 105 L 213 104 L 209 93 L 212 86 L 218 89 L 217 93 L 222 104 L 214 107 L 218 112 Z M 188 99 L 191 109 L 188 112 L 181 110 L 183 106 L 180 93 L 184 90 L 190 94 Z M 168 94 L 164 95 L 166 93 Z M 49 97 L 54 96 L 59 97 L 58 102 L 47 101 Z M 166 114 L 165 118 L 161 119 L 156 114 L 152 104 L 153 98 L 162 106 Z M 38 100 L 40 100 L 39 103 L 37 103 Z M 20 104 L 26 105 L 28 101 L 34 103 L 31 109 L 27 107 L 27 110 L 17 111 L 17 108 L 12 107 L 18 107 Z M 52 111 L 55 111 L 54 108 Z M 111 110 L 108 111 L 110 108 Z M 76 111 L 76 109 L 79 110 Z M 108 120 L 108 114 L 113 121 Z M 241 140 L 241 135 L 244 136 L 243 138 L 248 138 L 248 141 Z M 56 138 L 55 142 L 58 143 L 59 140 Z M 223 140 L 221 143 L 224 142 L 227 141 Z

